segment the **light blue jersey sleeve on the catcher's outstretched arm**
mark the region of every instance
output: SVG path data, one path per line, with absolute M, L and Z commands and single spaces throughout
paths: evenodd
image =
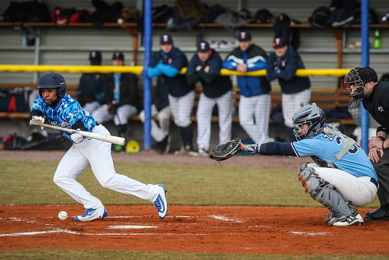
M 317 135 L 314 138 L 293 142 L 292 147 L 296 151 L 298 157 L 320 156 L 324 150 L 324 139 L 319 138 Z

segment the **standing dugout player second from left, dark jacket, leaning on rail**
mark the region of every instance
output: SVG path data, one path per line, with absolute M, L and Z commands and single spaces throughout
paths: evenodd
M 213 107 L 217 105 L 219 114 L 219 141 L 231 138 L 232 126 L 232 84 L 229 76 L 221 76 L 222 59 L 210 48 L 207 41 L 200 41 L 188 65 L 186 77 L 189 85 L 201 82 L 203 92 L 197 105 L 197 148 L 199 155 L 207 155 L 211 139 L 211 119 Z

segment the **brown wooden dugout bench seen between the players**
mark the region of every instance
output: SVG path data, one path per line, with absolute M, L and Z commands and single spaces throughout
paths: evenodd
M 14 90 L 15 88 L 24 88 L 24 87 L 31 87 L 35 88 L 36 84 L 11 84 L 11 83 L 0 83 L 0 88 L 9 89 L 10 91 Z M 76 98 L 76 91 L 77 91 L 78 85 L 77 84 L 67 84 L 66 93 L 70 94 L 72 97 Z M 195 108 L 197 108 L 198 99 L 200 97 L 200 93 L 202 91 L 201 87 L 196 87 L 196 94 L 195 94 Z M 141 95 L 143 92 L 140 92 Z M 233 98 L 234 98 L 234 107 L 238 107 L 239 105 L 239 88 L 234 87 L 233 88 Z M 280 89 L 273 89 L 271 92 L 271 102 L 272 105 L 281 104 L 281 97 L 282 93 Z M 141 98 L 141 97 L 140 97 Z M 143 100 L 141 98 L 141 100 Z M 331 110 L 336 107 L 347 107 L 350 101 L 350 97 L 347 94 L 347 91 L 345 89 L 312 89 L 311 91 L 311 102 L 316 102 L 319 107 L 323 108 L 324 110 Z M 28 112 L 0 112 L 0 119 L 28 119 L 29 113 Z M 192 115 L 192 121 L 196 121 L 195 112 Z M 154 118 L 157 119 L 157 118 Z M 140 121 L 140 118 L 138 115 L 133 116 L 130 120 L 132 121 Z M 212 116 L 212 122 L 217 122 L 219 120 L 218 116 Z M 232 117 L 233 122 L 239 122 L 238 116 Z M 343 118 L 340 119 L 342 124 L 344 125 L 355 125 L 355 121 L 352 118 Z M 270 122 L 272 122 L 270 120 Z

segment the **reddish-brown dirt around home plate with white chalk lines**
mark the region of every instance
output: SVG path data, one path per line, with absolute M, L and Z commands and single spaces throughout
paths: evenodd
M 0 250 L 122 249 L 209 253 L 388 254 L 389 222 L 330 227 L 325 208 L 107 206 L 103 221 L 60 221 L 81 206 L 0 206 Z M 360 209 L 365 215 L 369 209 Z

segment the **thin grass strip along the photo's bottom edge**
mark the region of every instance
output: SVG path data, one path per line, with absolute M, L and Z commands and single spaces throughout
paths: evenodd
M 287 255 L 287 254 L 204 254 L 204 253 L 173 253 L 173 252 L 132 252 L 120 250 L 68 250 L 68 249 L 34 249 L 0 252 L 1 259 L 115 259 L 115 260 L 181 260 L 181 259 L 222 259 L 222 260 L 253 260 L 253 259 L 277 259 L 277 260 L 380 260 L 388 259 L 388 255 Z

